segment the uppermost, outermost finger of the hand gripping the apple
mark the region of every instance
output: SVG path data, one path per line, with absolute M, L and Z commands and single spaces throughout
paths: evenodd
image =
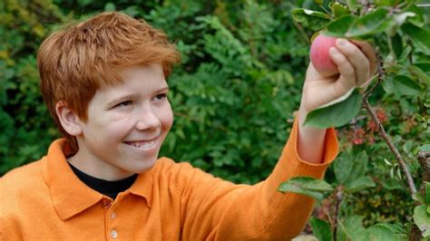
M 356 44 L 346 39 L 337 39 L 336 47 L 341 53 L 345 54 L 347 60 L 355 69 L 357 86 L 363 85 L 370 77 L 370 63 L 365 53 Z

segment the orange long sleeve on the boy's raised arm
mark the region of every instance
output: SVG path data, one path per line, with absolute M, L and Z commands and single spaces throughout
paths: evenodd
M 234 185 L 181 165 L 185 175 L 178 175 L 177 183 L 183 240 L 289 240 L 298 236 L 315 202 L 277 188 L 289 178 L 322 178 L 337 156 L 338 144 L 334 130 L 327 130 L 324 161 L 311 164 L 299 159 L 297 141 L 296 120 L 277 166 L 269 178 L 254 186 Z

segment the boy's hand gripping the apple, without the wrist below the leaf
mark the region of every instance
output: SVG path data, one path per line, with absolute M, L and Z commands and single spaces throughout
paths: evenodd
M 354 87 L 366 88 L 376 72 L 376 54 L 370 43 L 339 38 L 336 47 L 330 48 L 329 53 L 339 73 L 324 76 L 309 63 L 300 105 L 301 112 L 307 114 L 330 101 L 335 101 Z

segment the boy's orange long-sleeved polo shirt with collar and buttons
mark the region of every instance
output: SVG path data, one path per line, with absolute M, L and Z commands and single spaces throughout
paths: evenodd
M 278 192 L 279 183 L 321 178 L 337 155 L 332 129 L 322 164 L 299 159 L 297 141 L 296 121 L 276 168 L 253 186 L 161 158 L 112 200 L 73 174 L 64 157 L 66 140 L 55 140 L 43 159 L 0 179 L 0 240 L 291 239 L 306 224 L 314 201 Z

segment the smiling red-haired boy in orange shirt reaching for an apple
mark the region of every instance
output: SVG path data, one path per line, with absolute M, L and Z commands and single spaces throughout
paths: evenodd
M 37 56 L 41 92 L 64 139 L 0 180 L 0 239 L 288 240 L 314 202 L 279 183 L 322 178 L 337 155 L 334 131 L 301 125 L 308 111 L 369 80 L 367 43 L 339 40 L 338 76 L 310 64 L 298 118 L 265 181 L 234 185 L 158 159 L 172 124 L 165 78 L 179 53 L 165 34 L 103 13 L 52 34 Z M 372 61 L 369 61 L 372 60 Z

